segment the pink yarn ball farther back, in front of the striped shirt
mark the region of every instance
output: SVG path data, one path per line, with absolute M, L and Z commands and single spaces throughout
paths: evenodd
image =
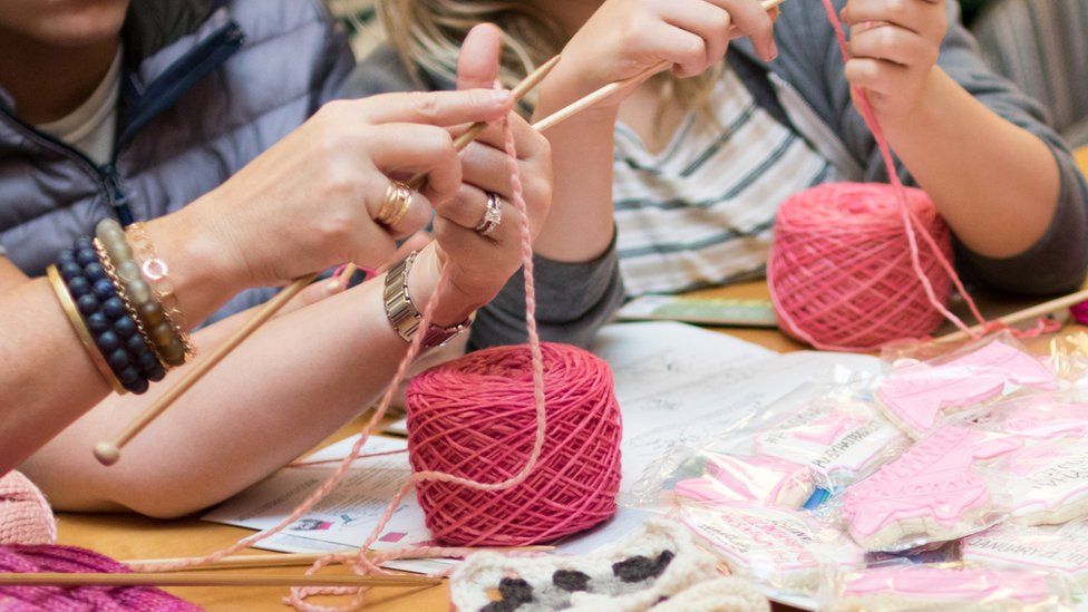
M 925 192 L 907 190 L 915 227 L 948 261 L 948 225 Z M 919 237 L 922 270 L 948 304 L 952 280 Z M 767 282 L 781 329 L 817 348 L 873 350 L 932 333 L 942 322 L 911 262 L 890 185 L 833 183 L 799 193 L 778 211 Z

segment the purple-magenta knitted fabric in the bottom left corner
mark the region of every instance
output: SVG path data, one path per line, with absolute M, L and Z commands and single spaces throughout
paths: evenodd
M 3 573 L 123 574 L 125 565 L 74 546 L 0 546 Z M 191 612 L 200 608 L 153 586 L 0 586 L 4 612 Z

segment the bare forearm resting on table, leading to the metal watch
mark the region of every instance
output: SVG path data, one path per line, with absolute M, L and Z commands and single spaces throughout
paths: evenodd
M 202 331 L 201 343 L 247 315 Z M 380 280 L 369 282 L 270 321 L 134 439 L 117 465 L 98 465 L 90 448 L 168 382 L 143 397 L 101 402 L 23 467 L 58 508 L 191 513 L 266 476 L 358 415 L 406 347 L 386 321 Z

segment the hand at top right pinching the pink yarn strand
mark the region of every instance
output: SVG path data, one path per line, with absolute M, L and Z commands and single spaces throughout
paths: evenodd
M 880 118 L 910 116 L 938 72 L 945 0 L 849 0 L 842 18 L 853 56 L 846 80 L 865 88 Z

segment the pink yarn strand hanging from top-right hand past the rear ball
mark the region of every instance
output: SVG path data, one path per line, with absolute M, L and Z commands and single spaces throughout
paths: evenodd
M 846 43 L 846 33 L 843 30 L 843 25 L 838 19 L 838 14 L 835 13 L 835 7 L 832 4 L 830 0 L 823 0 L 823 2 L 824 2 L 824 9 L 827 12 L 827 19 L 830 21 L 832 28 L 835 30 L 835 37 L 838 39 L 838 47 L 843 54 L 843 60 L 849 61 L 851 55 Z M 868 127 L 870 132 L 873 133 L 873 137 L 876 139 L 876 145 L 881 150 L 881 156 L 884 158 L 884 165 L 885 167 L 887 167 L 888 181 L 891 182 L 892 187 L 895 191 L 895 197 L 898 201 L 901 215 L 903 217 L 903 225 L 904 229 L 906 230 L 906 240 L 911 249 L 911 264 L 914 268 L 915 274 L 917 274 L 919 281 L 922 283 L 922 286 L 925 290 L 925 294 L 929 298 L 930 303 L 942 315 L 944 315 L 945 319 L 952 321 L 952 323 L 955 324 L 955 327 L 958 327 L 960 330 L 966 332 L 972 338 L 978 337 L 979 336 L 978 333 L 973 332 L 971 328 L 966 326 L 966 323 L 964 323 L 959 317 L 956 317 L 951 310 L 949 310 L 948 308 L 945 308 L 943 303 L 941 303 L 941 301 L 938 299 L 933 290 L 933 285 L 930 282 L 929 276 L 923 271 L 921 256 L 919 253 L 917 239 L 915 237 L 915 232 L 922 235 L 923 241 L 925 241 L 926 245 L 932 250 L 934 258 L 936 258 L 940 265 L 944 268 L 944 270 L 952 278 L 952 282 L 955 284 L 955 288 L 960 292 L 960 295 L 962 295 L 963 300 L 968 303 L 968 307 L 971 310 L 971 314 L 975 318 L 975 320 L 978 320 L 978 322 L 981 326 L 989 324 L 985 318 L 982 317 L 982 313 L 979 311 L 978 307 L 975 305 L 974 300 L 971 298 L 971 294 L 968 293 L 966 288 L 963 286 L 963 282 L 960 280 L 959 274 L 955 273 L 955 269 L 952 265 L 952 262 L 949 261 L 949 259 L 945 258 L 943 253 L 941 253 L 941 249 L 933 240 L 933 236 L 931 236 L 930 233 L 926 232 L 925 230 L 917 230 L 915 227 L 914 220 L 906 204 L 905 187 L 903 186 L 903 182 L 900 181 L 898 174 L 896 174 L 895 172 L 895 158 L 892 155 L 892 149 L 887 144 L 887 139 L 884 137 L 884 130 L 881 128 L 881 123 L 876 118 L 876 113 L 873 110 L 873 106 L 868 101 L 868 96 L 866 95 L 863 88 L 855 87 L 854 94 L 857 100 L 857 107 L 858 110 L 861 111 L 862 118 L 864 119 L 865 125 L 866 127 Z M 817 346 L 817 348 L 819 348 L 818 344 L 814 344 L 814 346 Z

